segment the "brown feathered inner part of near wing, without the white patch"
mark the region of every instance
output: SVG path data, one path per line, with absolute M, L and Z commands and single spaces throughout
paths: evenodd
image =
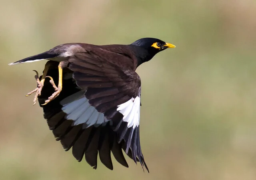
M 102 56 L 78 52 L 69 59 L 69 68 L 74 71 L 76 84 L 87 89 L 89 103 L 111 119 L 118 105 L 140 96 L 141 82 L 130 58 L 109 51 Z

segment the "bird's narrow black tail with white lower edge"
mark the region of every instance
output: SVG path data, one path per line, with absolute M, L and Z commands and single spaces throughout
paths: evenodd
M 40 61 L 40 60 L 44 60 L 44 59 L 50 59 L 50 58 L 55 58 L 56 56 L 58 56 L 59 54 L 49 54 L 48 51 L 43 52 L 41 54 L 37 54 L 34 56 L 30 56 L 28 58 L 24 58 L 22 60 L 19 60 L 17 62 L 13 62 L 10 63 L 8 65 L 14 65 L 14 64 L 20 64 L 20 63 L 24 63 L 24 62 L 34 62 L 34 61 Z

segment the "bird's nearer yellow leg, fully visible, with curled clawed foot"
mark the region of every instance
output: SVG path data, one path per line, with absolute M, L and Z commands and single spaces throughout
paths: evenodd
M 66 68 L 68 66 L 68 61 L 61 61 L 60 64 L 58 65 L 58 70 L 59 70 L 59 82 L 58 82 L 58 87 L 55 85 L 54 80 L 50 76 L 46 76 L 50 78 L 50 83 L 52 84 L 55 92 L 48 98 L 48 100 L 45 100 L 45 103 L 42 105 L 46 105 L 52 100 L 54 100 L 61 92 L 62 90 L 62 70 L 63 68 Z

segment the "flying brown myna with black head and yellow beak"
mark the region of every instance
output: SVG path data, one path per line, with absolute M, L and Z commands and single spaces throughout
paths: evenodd
M 42 76 L 34 70 L 37 87 L 26 96 L 35 93 L 49 129 L 78 162 L 85 157 L 96 169 L 99 156 L 113 170 L 112 152 L 128 167 L 124 151 L 149 172 L 140 146 L 141 80 L 135 70 L 175 47 L 157 38 L 128 45 L 68 43 L 9 65 L 48 60 Z

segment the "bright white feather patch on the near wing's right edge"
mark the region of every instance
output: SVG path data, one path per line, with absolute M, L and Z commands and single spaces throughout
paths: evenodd
M 131 98 L 120 104 L 117 110 L 124 115 L 123 121 L 128 122 L 128 128 L 138 127 L 140 124 L 140 97 Z

